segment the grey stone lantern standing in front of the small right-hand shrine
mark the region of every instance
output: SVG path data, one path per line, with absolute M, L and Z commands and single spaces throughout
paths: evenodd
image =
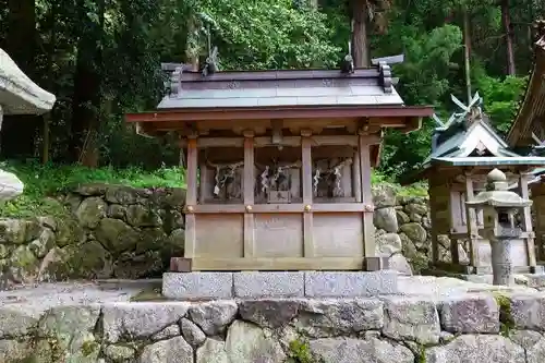
M 523 230 L 517 226 L 516 215 L 532 205 L 532 201 L 520 197 L 508 190 L 506 174 L 492 170 L 486 178 L 486 190 L 465 202 L 468 206 L 483 211 L 483 234 L 491 242 L 494 285 L 514 285 L 513 244 L 522 239 Z

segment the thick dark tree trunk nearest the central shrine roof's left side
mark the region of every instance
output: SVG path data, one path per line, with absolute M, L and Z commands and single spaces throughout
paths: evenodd
M 85 11 L 84 4 L 81 4 Z M 100 3 L 100 20 L 104 19 L 104 0 Z M 86 14 L 80 14 L 82 21 Z M 102 21 L 100 21 L 101 23 Z M 99 28 L 99 32 L 102 27 Z M 77 43 L 77 58 L 72 99 L 72 134 L 70 153 L 73 162 L 86 167 L 98 166 L 97 136 L 100 125 L 102 52 L 99 34 L 85 32 Z

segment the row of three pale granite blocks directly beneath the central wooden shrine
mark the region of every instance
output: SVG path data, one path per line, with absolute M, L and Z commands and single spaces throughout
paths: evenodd
M 398 293 L 398 279 L 393 270 L 167 273 L 162 294 L 173 300 L 364 298 Z

